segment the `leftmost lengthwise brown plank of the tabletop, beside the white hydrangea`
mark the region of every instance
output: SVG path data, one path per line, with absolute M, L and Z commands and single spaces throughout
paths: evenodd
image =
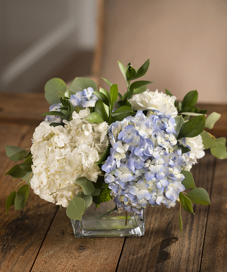
M 28 126 L 8 124 L 8 128 L 5 132 L 6 133 L 1 134 L 1 151 L 4 142 L 9 142 L 11 145 L 19 144 L 23 148 L 31 146 L 34 127 L 28 132 Z M 9 136 L 10 140 L 7 136 Z M 13 140 L 11 142 L 12 137 Z M 3 158 L 6 159 L 4 154 Z M 8 165 L 9 169 L 14 163 L 9 164 L 9 160 L 6 159 L 6 165 Z M 18 179 L 13 179 L 9 175 L 3 176 L 0 179 L 1 272 L 30 271 L 57 210 L 55 205 L 43 201 L 30 189 L 26 207 L 20 211 L 15 211 L 14 207 L 11 207 L 7 215 L 5 212 L 6 198 L 15 190 L 18 183 Z

